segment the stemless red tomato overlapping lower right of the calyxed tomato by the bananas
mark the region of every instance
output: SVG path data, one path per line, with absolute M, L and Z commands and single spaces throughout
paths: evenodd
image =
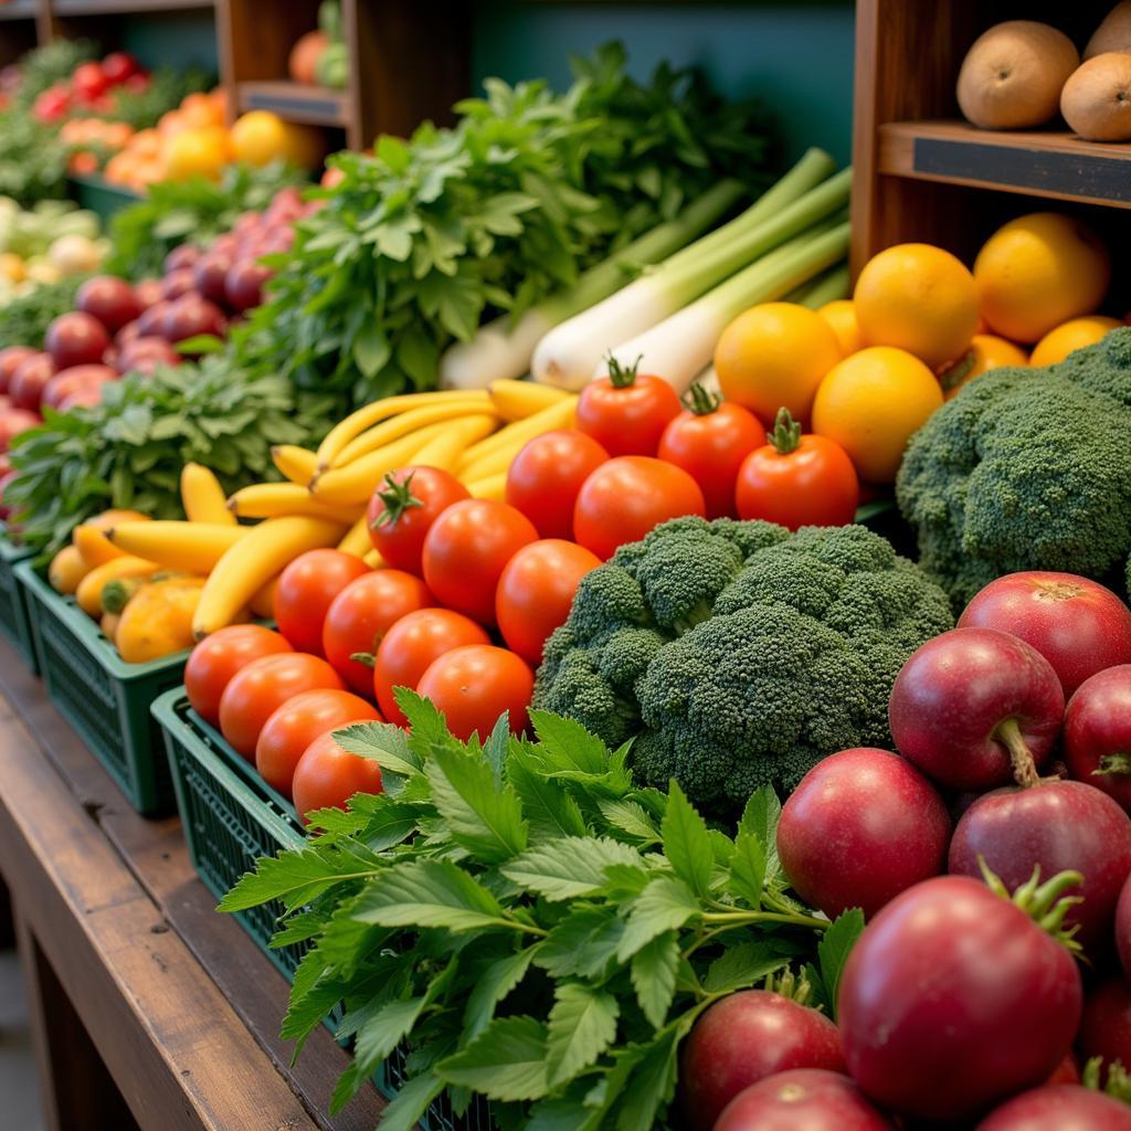
M 457 502 L 424 538 L 424 580 L 449 608 L 481 624 L 494 624 L 494 595 L 503 568 L 537 537 L 530 520 L 504 502 Z

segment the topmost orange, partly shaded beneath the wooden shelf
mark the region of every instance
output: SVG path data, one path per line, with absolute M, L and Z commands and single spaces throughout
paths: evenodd
M 1096 234 L 1071 216 L 1031 213 L 998 228 L 974 261 L 982 313 L 1015 342 L 1036 342 L 1107 293 L 1112 261 Z

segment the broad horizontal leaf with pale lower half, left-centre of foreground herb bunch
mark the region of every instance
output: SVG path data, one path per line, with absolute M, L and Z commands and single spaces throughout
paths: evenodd
M 353 917 L 374 926 L 498 926 L 499 901 L 467 872 L 446 860 L 416 860 L 387 869 L 357 899 Z

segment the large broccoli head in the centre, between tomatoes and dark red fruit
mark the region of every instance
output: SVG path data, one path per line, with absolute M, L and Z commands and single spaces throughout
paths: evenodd
M 943 592 L 862 526 L 679 518 L 581 580 L 534 706 L 632 739 L 639 782 L 675 778 L 727 819 L 761 785 L 890 742 L 899 668 L 952 625 Z

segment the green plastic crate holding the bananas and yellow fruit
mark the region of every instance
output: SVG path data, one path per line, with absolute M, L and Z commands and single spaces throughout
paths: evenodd
M 16 566 L 16 575 L 28 595 L 35 650 L 52 702 L 139 813 L 172 813 L 169 759 L 149 706 L 183 681 L 188 650 L 127 664 L 75 598 L 55 593 L 29 561 Z

